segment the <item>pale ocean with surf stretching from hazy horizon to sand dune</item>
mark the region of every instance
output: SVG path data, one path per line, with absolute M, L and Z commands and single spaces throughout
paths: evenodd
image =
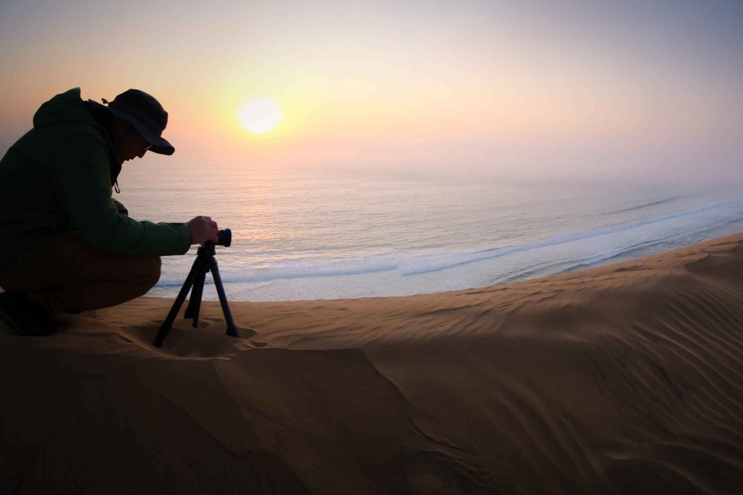
M 204 214 L 230 301 L 412 295 L 639 258 L 743 231 L 743 195 L 638 183 L 508 183 L 471 174 L 126 163 L 137 220 Z M 175 297 L 195 259 L 163 258 Z M 207 276 L 204 299 L 215 300 Z

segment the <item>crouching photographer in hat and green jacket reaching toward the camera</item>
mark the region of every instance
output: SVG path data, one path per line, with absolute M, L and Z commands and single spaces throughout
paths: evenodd
M 211 217 L 137 221 L 112 198 L 124 162 L 147 151 L 173 154 L 162 137 L 167 117 L 143 91 L 106 106 L 83 101 L 74 88 L 45 102 L 33 129 L 4 154 L 0 320 L 12 332 L 49 335 L 63 312 L 137 298 L 158 282 L 160 256 L 218 240 Z

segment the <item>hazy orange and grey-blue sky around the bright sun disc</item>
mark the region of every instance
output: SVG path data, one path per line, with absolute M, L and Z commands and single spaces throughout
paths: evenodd
M 742 27 L 743 1 L 2 0 L 0 153 L 54 94 L 139 88 L 153 164 L 739 180 Z

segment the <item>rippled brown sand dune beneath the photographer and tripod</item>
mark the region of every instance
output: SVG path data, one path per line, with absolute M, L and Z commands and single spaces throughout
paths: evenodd
M 171 304 L 0 332 L 0 493 L 743 493 L 743 234 L 152 347 Z

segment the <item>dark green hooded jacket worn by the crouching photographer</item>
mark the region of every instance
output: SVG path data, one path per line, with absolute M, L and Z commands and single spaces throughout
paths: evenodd
M 33 129 L 0 160 L 0 277 L 59 232 L 77 230 L 95 249 L 129 256 L 183 255 L 185 223 L 138 222 L 111 198 L 121 170 L 111 137 L 80 99 L 58 94 L 33 116 Z

